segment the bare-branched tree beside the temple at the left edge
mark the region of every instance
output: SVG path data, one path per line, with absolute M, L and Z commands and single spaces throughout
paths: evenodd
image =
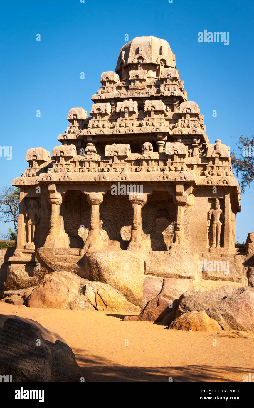
M 13 186 L 3 187 L 0 191 L 0 222 L 4 222 L 4 224 L 13 222 L 16 233 L 18 233 L 19 204 L 20 189 Z

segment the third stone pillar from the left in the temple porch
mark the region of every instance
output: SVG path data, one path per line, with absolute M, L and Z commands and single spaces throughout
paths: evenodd
M 142 207 L 147 202 L 148 193 L 129 194 L 129 200 L 133 208 L 133 222 L 131 225 L 131 240 L 128 249 L 131 251 L 143 251 L 145 248 L 142 242 Z

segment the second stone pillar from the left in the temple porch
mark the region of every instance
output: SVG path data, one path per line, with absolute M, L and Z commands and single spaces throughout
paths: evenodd
M 103 201 L 103 193 L 87 193 L 87 201 L 91 205 L 90 228 L 80 255 L 84 255 L 88 248 L 94 251 L 102 249 L 102 241 L 100 239 L 100 204 Z

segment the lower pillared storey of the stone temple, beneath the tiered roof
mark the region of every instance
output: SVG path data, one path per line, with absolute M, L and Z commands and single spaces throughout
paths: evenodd
M 45 273 L 58 270 L 100 280 L 111 256 L 120 265 L 123 257 L 129 259 L 132 254 L 140 258 L 141 275 L 242 282 L 241 259 L 229 255 L 236 253 L 235 214 L 229 188 L 218 188 L 215 194 L 212 186 L 192 188 L 189 183 L 144 184 L 143 188 L 140 198 L 112 195 L 109 184 L 51 184 L 39 193 L 33 187 L 23 189 L 18 246 L 11 257 L 9 283 L 5 287 L 35 286 Z M 216 199 L 224 216 L 221 248 L 211 248 L 212 221 L 208 222 Z M 36 224 L 35 248 L 26 248 L 24 214 L 31 200 L 36 200 L 40 220 Z M 177 229 L 179 223 L 184 229 Z M 203 258 L 217 261 L 223 253 L 230 260 L 229 276 L 198 270 Z M 94 257 L 98 257 L 98 262 Z M 115 271 L 114 263 L 112 267 Z M 133 268 L 134 271 L 134 265 Z

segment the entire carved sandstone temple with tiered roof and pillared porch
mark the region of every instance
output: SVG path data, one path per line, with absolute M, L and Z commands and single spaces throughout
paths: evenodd
M 91 116 L 70 109 L 52 154 L 29 149 L 13 180 L 20 215 L 5 288 L 71 271 L 139 306 L 147 276 L 246 284 L 229 147 L 209 143 L 167 41 L 134 38 L 100 82 Z

